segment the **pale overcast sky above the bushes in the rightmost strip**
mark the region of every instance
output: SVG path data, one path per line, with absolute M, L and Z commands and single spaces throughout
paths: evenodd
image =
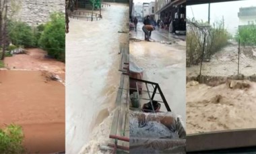
M 237 16 L 239 8 L 251 6 L 256 6 L 256 0 L 211 3 L 210 23 L 220 20 L 224 16 L 225 27 L 234 35 L 239 23 Z M 187 6 L 187 17 L 190 19 L 195 17 L 195 20 L 202 19 L 203 21 L 208 21 L 208 4 Z

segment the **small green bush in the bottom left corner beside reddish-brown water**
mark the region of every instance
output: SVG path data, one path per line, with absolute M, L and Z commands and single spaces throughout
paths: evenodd
M 24 153 L 22 127 L 9 125 L 0 129 L 0 151 L 5 154 Z

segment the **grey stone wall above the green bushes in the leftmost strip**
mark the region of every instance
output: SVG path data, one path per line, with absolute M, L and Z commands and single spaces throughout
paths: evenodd
M 30 25 L 39 25 L 40 23 L 46 23 L 49 21 L 51 12 L 61 11 L 65 13 L 65 1 L 63 0 L 15 0 L 18 11 L 13 15 L 13 19 L 24 21 Z M 11 9 L 17 7 L 11 7 L 9 3 L 9 15 L 11 15 Z

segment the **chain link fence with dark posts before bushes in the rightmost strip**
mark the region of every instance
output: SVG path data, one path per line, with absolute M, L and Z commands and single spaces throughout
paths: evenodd
M 255 66 L 256 48 L 231 40 L 223 21 L 187 21 L 187 76 L 251 76 Z

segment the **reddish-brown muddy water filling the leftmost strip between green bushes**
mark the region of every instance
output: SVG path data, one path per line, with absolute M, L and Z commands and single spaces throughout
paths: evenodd
M 65 86 L 41 71 L 65 79 L 65 64 L 44 54 L 30 49 L 28 55 L 5 58 L 8 70 L 0 70 L 0 127 L 21 125 L 31 153 L 65 151 Z

